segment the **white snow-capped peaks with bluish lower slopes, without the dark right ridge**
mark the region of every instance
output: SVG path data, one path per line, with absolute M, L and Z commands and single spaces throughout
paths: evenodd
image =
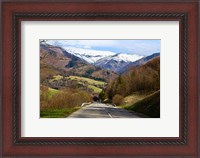
M 70 46 L 64 40 L 47 40 L 49 45 L 62 47 L 65 51 L 86 61 L 89 64 L 120 72 L 129 63 L 135 62 L 143 56 L 137 54 L 115 53 L 111 51 L 93 50 L 87 48 L 77 48 Z

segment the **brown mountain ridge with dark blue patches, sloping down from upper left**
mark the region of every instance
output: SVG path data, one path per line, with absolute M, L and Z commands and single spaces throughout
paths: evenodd
M 61 47 L 43 43 L 40 44 L 40 65 L 42 69 L 48 68 L 48 71 L 55 69 L 64 75 L 78 75 L 106 81 L 117 77 L 113 71 L 89 64 Z

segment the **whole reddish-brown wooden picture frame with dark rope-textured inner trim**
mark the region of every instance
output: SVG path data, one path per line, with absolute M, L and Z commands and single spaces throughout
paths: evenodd
M 176 3 L 174 3 L 176 2 Z M 3 2 L 2 156 L 198 157 L 198 1 Z M 21 137 L 21 21 L 179 21 L 179 137 Z

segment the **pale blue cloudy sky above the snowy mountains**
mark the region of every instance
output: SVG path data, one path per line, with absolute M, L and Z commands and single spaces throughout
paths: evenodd
M 48 40 L 61 47 L 106 50 L 148 56 L 160 52 L 160 40 Z

